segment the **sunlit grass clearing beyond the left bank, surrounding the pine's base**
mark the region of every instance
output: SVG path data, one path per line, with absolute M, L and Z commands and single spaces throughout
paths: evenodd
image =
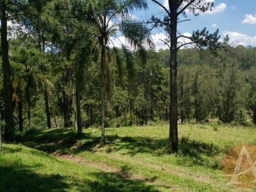
M 214 131 L 211 125 L 180 125 L 179 138 L 178 154 L 168 154 L 168 125 L 108 128 L 106 143 L 100 142 L 100 129 L 95 128 L 84 129 L 81 139 L 72 129 L 49 129 L 20 134 L 17 140 L 121 170 L 159 191 L 241 191 L 228 184 L 222 161 L 234 145 L 255 144 L 255 129 L 218 127 Z

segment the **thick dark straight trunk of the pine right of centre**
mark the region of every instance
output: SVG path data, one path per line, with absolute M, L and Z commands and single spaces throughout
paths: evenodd
M 169 149 L 170 152 L 178 152 L 178 100 L 177 100 L 177 9 L 176 1 L 170 3 L 171 24 L 170 24 L 170 132 Z

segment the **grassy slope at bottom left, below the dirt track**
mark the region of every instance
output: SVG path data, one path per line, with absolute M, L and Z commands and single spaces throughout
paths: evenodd
M 0 191 L 157 191 L 145 182 L 60 159 L 17 144 L 3 145 Z M 128 187 L 128 190 L 127 190 Z

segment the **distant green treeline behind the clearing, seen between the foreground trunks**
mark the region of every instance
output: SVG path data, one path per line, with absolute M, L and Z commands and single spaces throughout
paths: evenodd
M 11 47 L 11 52 L 13 118 L 20 131 L 23 127 L 47 127 L 47 108 L 53 127 L 75 126 L 72 65 L 50 52 L 33 48 Z M 132 76 L 127 76 L 127 68 L 118 70 L 113 58 L 108 58 L 107 127 L 169 120 L 169 55 L 168 50 L 149 50 L 146 62 L 141 63 L 140 56 L 135 54 Z M 181 49 L 178 55 L 180 123 L 220 120 L 225 124 L 256 124 L 256 47 L 227 45 L 225 50 L 214 51 Z M 82 124 L 99 126 L 102 109 L 99 62 L 92 61 L 84 73 L 80 92 Z M 3 103 L 3 84 L 0 100 Z

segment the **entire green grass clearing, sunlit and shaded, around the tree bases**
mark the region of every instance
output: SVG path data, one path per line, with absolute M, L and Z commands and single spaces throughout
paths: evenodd
M 3 146 L 0 191 L 256 191 L 230 186 L 221 170 L 231 147 L 256 144 L 255 129 L 180 125 L 179 137 L 179 153 L 168 154 L 168 126 L 108 128 L 106 143 L 100 129 L 80 139 L 72 129 L 22 133 L 22 144 Z

